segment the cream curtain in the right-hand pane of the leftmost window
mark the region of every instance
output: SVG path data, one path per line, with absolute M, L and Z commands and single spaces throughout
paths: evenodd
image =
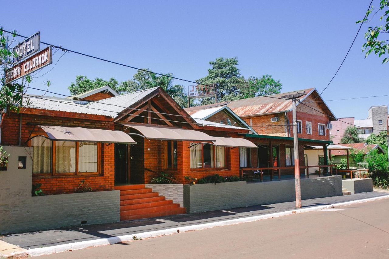
M 78 172 L 97 172 L 97 143 L 79 143 Z

